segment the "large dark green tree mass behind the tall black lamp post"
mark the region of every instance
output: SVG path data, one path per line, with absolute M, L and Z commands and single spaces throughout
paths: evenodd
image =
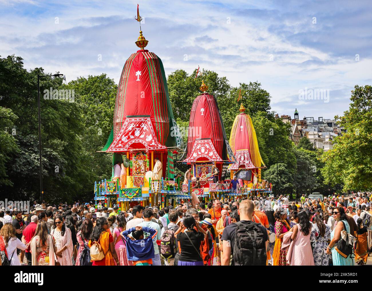
M 11 109 L 17 116 L 14 138 L 19 148 L 10 153 L 5 165 L 12 185 L 8 183 L 0 191 L 1 195 L 11 195 L 14 200 L 40 199 L 38 74 L 46 75 L 42 68 L 28 72 L 23 68 L 20 57 L 0 59 L 0 106 Z M 45 92 L 51 87 L 53 90 L 63 88 L 62 80 L 46 77 L 40 82 L 44 196 L 49 201 L 72 200 L 81 196 L 89 181 L 86 179 L 89 169 L 82 164 L 84 157 L 80 152 L 81 138 L 78 135 L 84 125 L 78 102 L 53 97 L 48 99 Z

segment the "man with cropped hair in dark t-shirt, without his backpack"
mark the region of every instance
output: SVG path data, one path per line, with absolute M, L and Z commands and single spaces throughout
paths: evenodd
M 252 216 L 254 212 L 254 204 L 251 200 L 243 200 L 239 204 L 238 213 L 240 215 L 240 222 L 244 224 L 253 223 Z M 257 224 L 258 225 L 258 224 Z M 269 237 L 267 235 L 267 230 L 262 224 L 259 224 L 258 227 L 262 228 L 264 234 L 264 242 L 267 249 L 267 243 Z M 229 266 L 231 262 L 232 255 L 234 254 L 234 244 L 235 244 L 235 230 L 237 228 L 236 223 L 231 223 L 225 227 L 224 232 L 222 233 L 222 258 L 221 265 Z

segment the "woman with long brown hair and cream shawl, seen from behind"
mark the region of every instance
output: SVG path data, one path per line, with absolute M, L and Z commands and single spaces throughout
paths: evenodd
M 48 234 L 47 223 L 39 220 L 31 239 L 32 266 L 54 266 L 54 237 Z

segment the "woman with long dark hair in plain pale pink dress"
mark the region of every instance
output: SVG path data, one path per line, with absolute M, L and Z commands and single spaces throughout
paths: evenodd
M 298 213 L 298 223 L 293 227 L 291 245 L 287 253 L 287 261 L 291 266 L 314 266 L 314 258 L 310 245 L 312 224 L 306 211 Z

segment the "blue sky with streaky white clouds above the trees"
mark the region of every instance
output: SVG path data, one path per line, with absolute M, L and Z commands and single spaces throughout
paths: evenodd
M 333 118 L 354 85 L 372 83 L 372 1 L 0 0 L 0 55 L 67 81 L 106 73 L 118 82 L 137 51 L 137 3 L 167 75 L 200 65 L 234 86 L 259 81 L 279 115 Z M 329 90 L 329 102 L 300 99 L 305 88 Z

